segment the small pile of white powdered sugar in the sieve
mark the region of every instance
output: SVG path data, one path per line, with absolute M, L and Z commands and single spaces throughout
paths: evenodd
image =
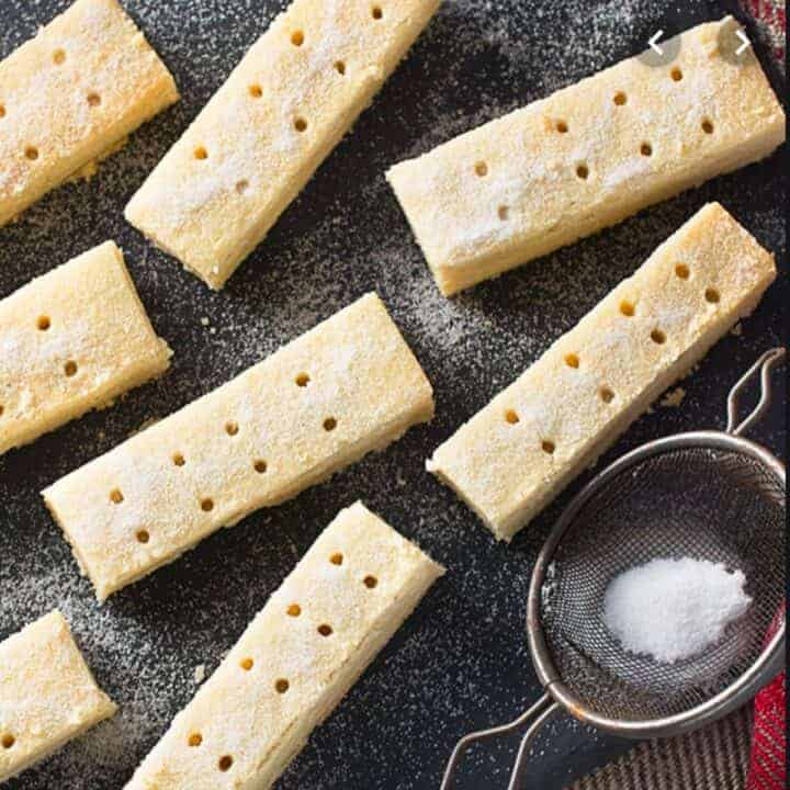
M 632 653 L 664 664 L 690 658 L 721 640 L 752 603 L 746 577 L 707 560 L 653 560 L 609 585 L 607 628 Z

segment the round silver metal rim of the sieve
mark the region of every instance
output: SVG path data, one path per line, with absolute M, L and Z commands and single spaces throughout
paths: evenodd
M 596 475 L 571 501 L 546 539 L 532 573 L 527 601 L 527 639 L 538 679 L 551 697 L 578 720 L 600 730 L 629 738 L 665 737 L 696 730 L 745 704 L 756 691 L 777 675 L 785 658 L 786 624 L 782 622 L 760 655 L 737 680 L 702 704 L 654 721 L 621 720 L 596 713 L 562 680 L 545 642 L 541 619 L 542 589 L 549 566 L 564 533 L 579 510 L 600 490 L 601 486 L 643 462 L 645 459 L 673 450 L 701 448 L 744 453 L 758 461 L 782 487 L 786 469 L 772 453 L 760 444 L 724 431 L 689 431 L 656 439 L 632 450 Z

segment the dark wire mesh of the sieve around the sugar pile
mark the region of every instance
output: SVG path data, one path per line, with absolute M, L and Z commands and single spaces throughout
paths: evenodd
M 563 681 L 611 719 L 653 721 L 723 691 L 757 659 L 785 595 L 785 487 L 745 452 L 686 447 L 623 470 L 576 514 L 546 574 L 541 618 Z M 658 664 L 603 623 L 609 583 L 658 557 L 743 571 L 753 603 L 701 655 Z

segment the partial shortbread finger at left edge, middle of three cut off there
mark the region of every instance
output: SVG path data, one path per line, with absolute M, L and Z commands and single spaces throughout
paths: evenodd
M 163 373 L 121 250 L 105 241 L 0 302 L 0 453 Z

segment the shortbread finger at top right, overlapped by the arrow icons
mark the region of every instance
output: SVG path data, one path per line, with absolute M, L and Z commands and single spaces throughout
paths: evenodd
M 684 33 L 387 173 L 451 295 L 770 154 L 785 113 L 732 18 Z

